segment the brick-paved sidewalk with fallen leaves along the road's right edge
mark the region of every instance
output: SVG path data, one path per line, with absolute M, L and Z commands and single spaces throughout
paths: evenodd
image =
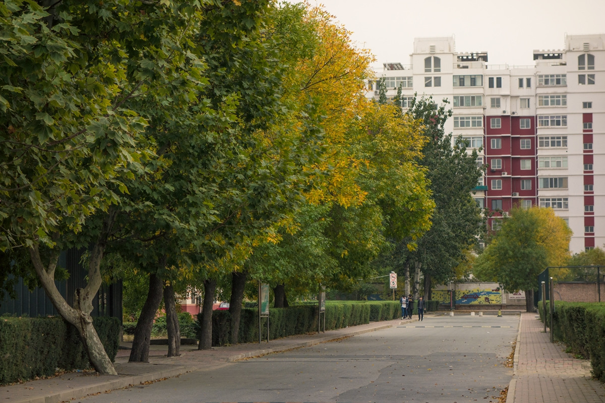
M 551 343 L 535 313 L 521 315 L 514 375 L 507 403 L 605 403 L 605 384 L 592 379 L 590 363 Z

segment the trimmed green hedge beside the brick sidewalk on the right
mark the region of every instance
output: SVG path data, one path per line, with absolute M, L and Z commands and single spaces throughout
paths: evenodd
M 605 303 L 555 301 L 552 326 L 549 303 L 546 301 L 546 318 L 540 303 L 541 320 L 546 320 L 554 338 L 566 343 L 574 353 L 589 358 L 592 375 L 605 381 Z

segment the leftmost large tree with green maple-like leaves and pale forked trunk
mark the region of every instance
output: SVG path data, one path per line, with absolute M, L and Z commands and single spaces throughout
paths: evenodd
M 155 144 L 139 98 L 167 110 L 200 83 L 201 62 L 182 51 L 198 3 L 6 1 L 2 35 L 0 248 L 25 247 L 57 311 L 77 327 L 91 363 L 115 374 L 92 326 L 100 261 L 126 182 L 146 175 Z M 91 246 L 88 283 L 72 306 L 54 285 L 60 250 Z

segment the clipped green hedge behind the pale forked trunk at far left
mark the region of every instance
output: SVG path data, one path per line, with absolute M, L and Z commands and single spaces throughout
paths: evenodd
M 120 346 L 120 321 L 93 318 L 111 361 Z M 0 318 L 0 384 L 54 375 L 56 369 L 91 367 L 75 327 L 59 317 Z

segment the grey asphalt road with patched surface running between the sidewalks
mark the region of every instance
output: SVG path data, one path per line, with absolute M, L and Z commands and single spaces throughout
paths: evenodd
M 459 314 L 80 399 L 102 402 L 497 401 L 518 315 Z

